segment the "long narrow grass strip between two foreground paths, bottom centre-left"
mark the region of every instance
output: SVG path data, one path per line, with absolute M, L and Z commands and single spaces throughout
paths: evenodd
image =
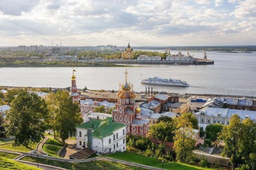
M 36 157 L 26 156 L 21 160 L 25 160 L 28 162 L 36 162 Z M 105 169 L 115 169 L 115 170 L 144 170 L 144 168 L 139 168 L 136 166 L 124 165 L 122 163 L 110 162 L 105 160 L 97 160 L 92 162 L 81 162 L 81 163 L 70 163 L 70 162 L 60 162 L 56 160 L 49 159 L 38 159 L 39 163 L 43 163 L 46 165 L 58 166 L 60 168 L 66 169 L 94 169 L 94 170 L 105 170 Z

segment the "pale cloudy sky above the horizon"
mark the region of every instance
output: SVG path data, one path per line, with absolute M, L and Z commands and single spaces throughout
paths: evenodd
M 0 46 L 256 45 L 255 0 L 0 0 Z

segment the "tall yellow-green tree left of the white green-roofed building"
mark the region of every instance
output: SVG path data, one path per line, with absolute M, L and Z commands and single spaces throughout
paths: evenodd
M 78 104 L 72 102 L 67 91 L 51 93 L 46 102 L 51 113 L 48 124 L 65 142 L 65 139 L 75 134 L 75 127 L 83 122 Z

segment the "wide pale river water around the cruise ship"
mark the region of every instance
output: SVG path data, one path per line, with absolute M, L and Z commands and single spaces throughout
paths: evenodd
M 190 52 L 203 58 L 202 52 Z M 124 83 L 127 69 L 128 81 L 133 90 L 174 93 L 201 93 L 225 95 L 256 95 L 256 53 L 226 53 L 209 51 L 208 58 L 214 65 L 142 65 L 132 68 L 75 68 L 77 87 L 82 89 L 118 90 Z M 72 68 L 0 68 L 1 86 L 68 87 Z M 173 78 L 188 81 L 190 87 L 170 87 L 141 84 L 149 77 Z

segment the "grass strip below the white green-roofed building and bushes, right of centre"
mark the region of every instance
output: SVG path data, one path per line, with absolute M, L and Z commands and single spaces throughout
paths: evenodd
M 134 162 L 142 165 L 162 168 L 161 160 L 152 158 L 152 157 L 141 156 L 135 153 L 129 153 L 129 152 L 115 153 L 115 154 L 106 155 L 105 157 L 111 157 L 114 159 L 126 160 L 128 162 Z M 191 169 L 192 170 L 192 169 L 207 169 L 207 168 L 201 168 L 199 166 L 187 165 L 183 163 L 164 162 L 164 169 L 186 169 L 186 170 Z

